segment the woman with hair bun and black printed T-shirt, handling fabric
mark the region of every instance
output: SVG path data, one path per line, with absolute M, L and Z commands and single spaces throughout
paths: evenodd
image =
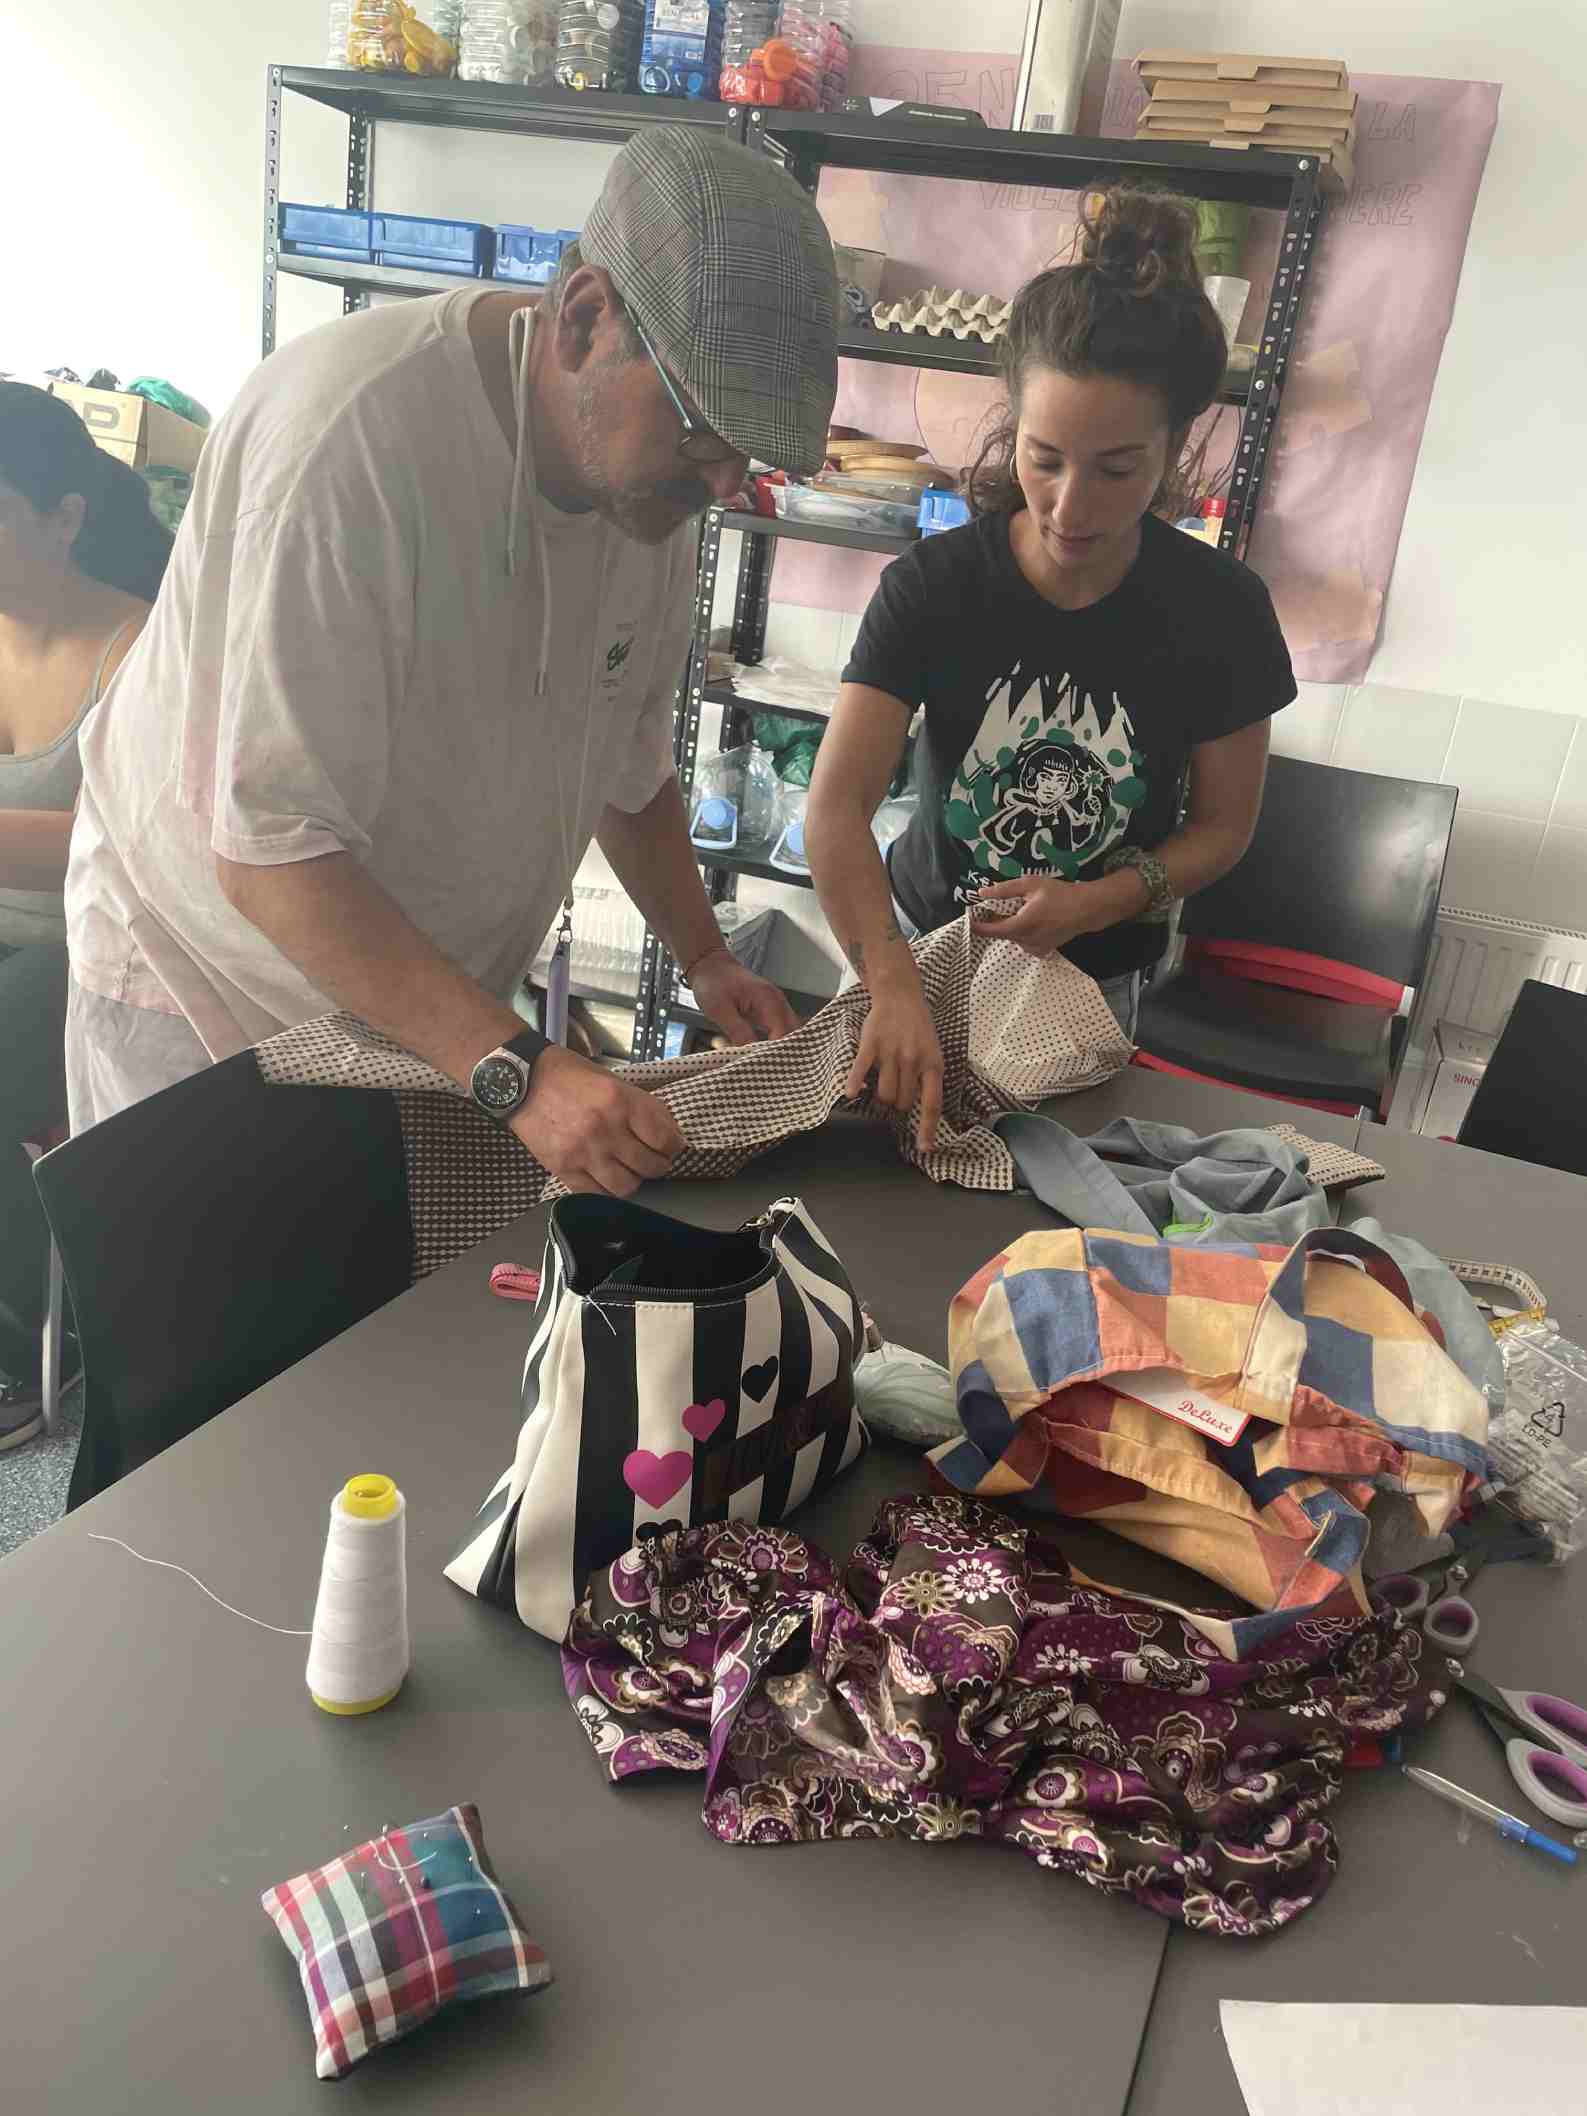
M 1183 199 L 1115 188 L 1020 290 L 975 518 L 882 573 L 821 743 L 810 872 L 872 999 L 849 1092 L 918 1105 L 923 1147 L 942 1050 L 908 942 L 971 908 L 1086 969 L 1132 1035 L 1170 904 L 1251 842 L 1295 696 L 1261 580 L 1155 512 L 1225 368 L 1193 243 Z M 882 863 L 870 819 L 916 707 L 920 810 Z

